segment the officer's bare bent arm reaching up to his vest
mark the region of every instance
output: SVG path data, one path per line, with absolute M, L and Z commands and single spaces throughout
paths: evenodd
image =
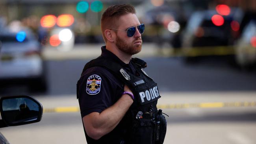
M 124 94 L 111 107 L 102 113 L 91 113 L 83 117 L 85 130 L 89 137 L 99 139 L 112 131 L 124 117 L 133 100 L 129 95 Z

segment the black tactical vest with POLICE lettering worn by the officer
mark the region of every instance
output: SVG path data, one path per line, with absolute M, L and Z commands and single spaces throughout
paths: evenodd
M 131 126 L 127 126 L 124 144 L 161 144 L 166 133 L 166 120 L 156 107 L 158 99 L 161 98 L 158 86 L 143 70 L 147 66 L 145 61 L 132 58 L 131 63 L 138 76 L 125 70 L 119 63 L 104 57 L 87 63 L 83 72 L 94 66 L 102 66 L 132 90 L 134 103 L 124 116 Z M 162 119 L 162 122 L 159 119 Z

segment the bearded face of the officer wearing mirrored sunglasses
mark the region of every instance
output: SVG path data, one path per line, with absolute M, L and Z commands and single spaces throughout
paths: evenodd
M 128 28 L 133 26 L 138 26 L 140 24 L 137 16 L 135 14 L 129 13 L 127 15 L 123 15 L 119 18 L 119 28 L 117 31 L 117 37 L 115 39 L 115 45 L 119 50 L 126 54 L 134 55 L 141 51 L 141 34 L 139 30 L 136 28 L 136 31 L 132 37 L 127 36 L 127 32 L 125 32 Z

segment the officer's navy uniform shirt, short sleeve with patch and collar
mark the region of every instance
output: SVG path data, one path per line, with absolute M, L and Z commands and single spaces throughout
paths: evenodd
M 126 64 L 115 54 L 102 46 L 102 57 L 120 63 L 126 70 L 135 74 L 135 68 L 131 63 Z M 95 66 L 83 72 L 78 86 L 81 115 L 98 112 L 101 113 L 113 105 L 124 92 L 124 84 L 106 68 Z

